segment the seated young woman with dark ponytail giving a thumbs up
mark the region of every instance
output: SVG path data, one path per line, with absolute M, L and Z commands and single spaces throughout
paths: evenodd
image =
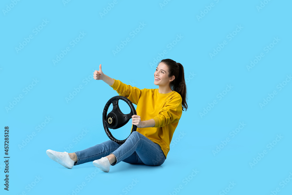
M 137 105 L 137 115 L 132 124 L 137 125 L 124 144 L 112 140 L 74 153 L 47 150 L 47 155 L 66 168 L 92 162 L 104 172 L 110 165 L 123 161 L 131 164 L 157 166 L 164 163 L 170 142 L 182 115 L 187 110 L 187 89 L 184 69 L 180 63 L 164 59 L 154 72 L 154 84 L 158 89 L 138 89 L 105 75 L 99 66 L 93 75 L 102 80 Z

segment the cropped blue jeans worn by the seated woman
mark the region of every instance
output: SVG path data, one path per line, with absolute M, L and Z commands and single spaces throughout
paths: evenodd
M 109 154 L 114 154 L 117 158 L 117 162 L 112 165 L 123 161 L 130 164 L 158 166 L 165 161 L 165 156 L 160 146 L 137 131 L 132 132 L 124 144 L 117 144 L 112 140 L 108 140 L 75 152 L 75 154 L 77 162 L 74 165 L 92 162 Z

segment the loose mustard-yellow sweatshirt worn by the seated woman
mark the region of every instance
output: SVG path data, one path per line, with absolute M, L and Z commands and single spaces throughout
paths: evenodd
M 120 96 L 125 96 L 137 105 L 136 111 L 141 121 L 155 120 L 154 127 L 137 127 L 137 132 L 158 144 L 166 157 L 174 130 L 183 112 L 180 94 L 175 91 L 160 94 L 158 89 L 138 89 L 115 79 L 111 87 Z

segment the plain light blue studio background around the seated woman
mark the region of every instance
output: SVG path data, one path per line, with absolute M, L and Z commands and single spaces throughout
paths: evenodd
M 265 0 L 267 4 L 257 9 L 260 0 L 117 0 L 102 17 L 100 13 L 113 1 L 15 2 L 13 5 L 4 0 L 0 6 L 1 159 L 6 156 L 4 127 L 10 130 L 10 185 L 9 191 L 3 189 L 2 163 L 1 194 L 175 195 L 226 194 L 222 191 L 226 190 L 230 195 L 269 195 L 277 188 L 277 194 L 291 194 L 292 181 L 287 179 L 284 187 L 280 183 L 292 172 L 292 82 L 285 83 L 292 73 L 291 1 Z M 167 4 L 161 7 L 163 2 Z M 205 15 L 198 20 L 201 11 Z M 35 34 L 34 29 L 43 20 L 48 23 L 43 23 Z M 145 26 L 140 26 L 133 37 L 130 33 L 140 23 Z M 239 30 L 237 25 L 243 28 Z M 239 32 L 234 32 L 236 29 Z M 72 47 L 70 42 L 80 32 L 85 33 L 84 37 Z M 227 37 L 230 33 L 236 34 L 231 40 Z M 33 39 L 17 52 L 15 47 L 29 35 Z M 175 43 L 177 36 L 181 38 Z M 127 38 L 130 42 L 114 55 L 112 50 Z M 280 40 L 266 53 L 265 47 L 274 38 Z M 227 44 L 211 59 L 210 53 L 224 41 Z M 54 65 L 53 60 L 66 47 L 70 51 Z M 65 151 L 72 144 L 69 152 L 73 152 L 108 140 L 102 127 L 102 111 L 117 93 L 104 82 L 92 79 L 99 64 L 105 74 L 126 84 L 157 88 L 153 84 L 157 65 L 154 58 L 159 61 L 164 50 L 163 58 L 184 66 L 188 110 L 183 112 L 163 165 L 122 162 L 105 173 L 95 172 L 92 163 L 69 170 L 48 158 L 47 149 Z M 246 66 L 261 53 L 264 57 L 248 71 Z M 150 64 L 153 62 L 154 66 Z M 86 81 L 86 77 L 91 80 Z M 30 86 L 33 80 L 38 82 Z M 286 85 L 280 90 L 282 82 Z M 83 88 L 67 102 L 65 98 L 79 85 Z M 219 93 L 226 93 L 227 85 L 232 86 L 231 90 L 218 98 Z M 25 87 L 32 89 L 26 93 Z M 260 103 L 273 91 L 277 94 L 261 108 Z M 16 102 L 19 95 L 23 98 Z M 217 104 L 208 108 L 214 100 Z M 13 108 L 6 110 L 13 101 Z M 204 108 L 209 111 L 201 117 Z M 47 124 L 46 117 L 51 118 Z M 240 122 L 246 125 L 232 137 L 230 132 Z M 43 129 L 36 130 L 42 123 Z M 116 132 L 120 139 L 128 136 L 131 125 L 127 125 Z M 19 147 L 33 132 L 35 136 Z M 277 135 L 282 138 L 274 141 Z M 79 141 L 75 138 L 78 136 Z M 212 150 L 228 138 L 226 146 L 214 155 Z M 267 147 L 273 141 L 276 145 Z M 258 153 L 264 150 L 266 154 L 260 157 Z M 254 158 L 260 161 L 251 165 Z M 193 170 L 198 171 L 194 177 Z

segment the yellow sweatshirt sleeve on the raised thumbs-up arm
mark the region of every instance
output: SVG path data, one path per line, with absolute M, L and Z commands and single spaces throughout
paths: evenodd
M 120 80 L 114 79 L 114 84 L 110 85 L 120 96 L 124 96 L 128 98 L 132 103 L 138 104 L 140 95 L 142 90 L 137 87 L 132 87 L 131 85 L 127 85 L 122 83 Z

